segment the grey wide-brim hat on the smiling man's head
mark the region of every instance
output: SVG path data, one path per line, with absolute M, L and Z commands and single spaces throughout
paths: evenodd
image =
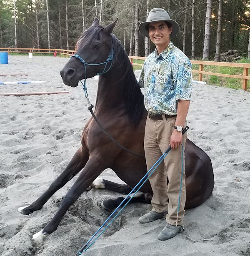
M 167 21 L 172 24 L 173 30 L 172 33 L 170 34 L 171 37 L 176 35 L 180 30 L 179 24 L 175 20 L 171 20 L 168 13 L 164 9 L 153 8 L 152 10 L 150 10 L 147 20 L 145 22 L 140 23 L 139 32 L 145 37 L 149 38 L 147 25 L 159 21 Z

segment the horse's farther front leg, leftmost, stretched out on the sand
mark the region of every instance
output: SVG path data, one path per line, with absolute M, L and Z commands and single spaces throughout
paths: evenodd
M 70 181 L 85 166 L 88 160 L 88 154 L 81 147 L 79 148 L 65 170 L 52 182 L 50 187 L 35 202 L 29 206 L 20 207 L 18 211 L 22 214 L 30 214 L 33 211 L 40 210 L 50 197 L 68 181 Z

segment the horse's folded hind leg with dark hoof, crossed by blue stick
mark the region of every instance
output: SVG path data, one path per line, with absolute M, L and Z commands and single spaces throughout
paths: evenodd
M 134 196 L 129 203 L 151 203 L 152 196 L 152 194 L 142 193 L 139 196 Z M 122 206 L 125 205 L 125 203 L 127 203 L 129 199 L 130 198 L 127 198 L 125 202 L 122 204 Z M 122 196 L 119 196 L 114 199 L 104 199 L 101 203 L 101 206 L 107 211 L 112 211 L 115 208 L 117 208 L 117 206 L 119 206 L 123 200 L 124 198 Z

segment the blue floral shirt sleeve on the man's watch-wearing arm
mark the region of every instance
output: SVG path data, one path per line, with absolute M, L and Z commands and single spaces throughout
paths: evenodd
M 191 100 L 192 64 L 188 58 L 182 59 L 178 67 L 173 67 L 173 80 L 176 83 L 176 100 Z

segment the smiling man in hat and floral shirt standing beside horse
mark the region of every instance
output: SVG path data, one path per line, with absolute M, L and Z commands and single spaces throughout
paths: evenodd
M 148 223 L 166 216 L 167 225 L 158 239 L 167 240 L 183 231 L 186 193 L 185 172 L 182 175 L 184 154 L 183 159 L 181 156 L 186 134 L 182 135 L 182 130 L 186 126 L 191 100 L 192 65 L 188 57 L 170 41 L 170 36 L 178 33 L 179 25 L 170 19 L 165 10 L 152 9 L 147 21 L 140 23 L 139 31 L 156 46 L 145 60 L 138 79 L 140 87 L 144 87 L 145 108 L 148 110 L 144 140 L 148 170 L 169 145 L 172 148 L 164 163 L 149 178 L 153 189 L 153 209 L 139 221 Z

